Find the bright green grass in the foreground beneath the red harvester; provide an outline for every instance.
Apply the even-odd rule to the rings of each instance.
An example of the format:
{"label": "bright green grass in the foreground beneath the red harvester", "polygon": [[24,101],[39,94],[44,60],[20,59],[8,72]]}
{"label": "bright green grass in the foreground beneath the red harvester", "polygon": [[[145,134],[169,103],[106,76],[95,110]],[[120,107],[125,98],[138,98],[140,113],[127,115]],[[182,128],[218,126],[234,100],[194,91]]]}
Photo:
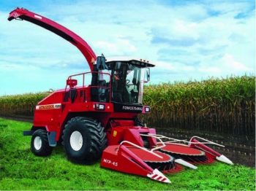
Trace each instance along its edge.
{"label": "bright green grass in the foreground beneath the red harvester", "polygon": [[255,190],[255,169],[214,163],[167,175],[172,184],[70,163],[62,147],[50,157],[30,152],[31,123],[0,118],[0,190]]}

